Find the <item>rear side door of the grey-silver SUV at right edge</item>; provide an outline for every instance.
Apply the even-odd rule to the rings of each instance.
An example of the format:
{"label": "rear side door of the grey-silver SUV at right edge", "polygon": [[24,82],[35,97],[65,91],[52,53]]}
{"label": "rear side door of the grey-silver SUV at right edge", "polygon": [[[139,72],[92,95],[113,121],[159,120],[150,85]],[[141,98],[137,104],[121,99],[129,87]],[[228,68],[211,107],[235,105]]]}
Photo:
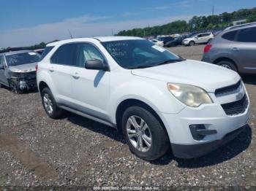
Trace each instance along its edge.
{"label": "rear side door of the grey-silver SUV at right edge", "polygon": [[256,27],[238,31],[230,50],[244,71],[256,71]]}

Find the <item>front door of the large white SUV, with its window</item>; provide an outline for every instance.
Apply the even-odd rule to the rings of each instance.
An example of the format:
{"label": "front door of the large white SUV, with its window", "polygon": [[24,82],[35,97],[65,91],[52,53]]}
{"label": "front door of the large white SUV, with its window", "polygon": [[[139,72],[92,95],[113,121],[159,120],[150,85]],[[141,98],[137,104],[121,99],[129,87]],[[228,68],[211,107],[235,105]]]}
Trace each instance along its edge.
{"label": "front door of the large white SUV, with its window", "polygon": [[86,61],[100,60],[108,64],[94,44],[77,44],[72,78],[72,98],[75,108],[102,120],[108,120],[107,105],[110,98],[110,72],[85,68]]}

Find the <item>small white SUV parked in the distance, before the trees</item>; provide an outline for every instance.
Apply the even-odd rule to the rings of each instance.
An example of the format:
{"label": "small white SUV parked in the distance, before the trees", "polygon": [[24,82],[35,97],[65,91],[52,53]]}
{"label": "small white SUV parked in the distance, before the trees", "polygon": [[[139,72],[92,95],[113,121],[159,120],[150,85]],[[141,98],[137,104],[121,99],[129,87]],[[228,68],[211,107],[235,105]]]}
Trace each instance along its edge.
{"label": "small white SUV parked in the distance, before the trees", "polygon": [[206,44],[211,41],[211,39],[214,39],[214,34],[212,33],[200,33],[195,34],[187,39],[184,39],[182,41],[182,44],[185,46],[194,46],[195,44]]}

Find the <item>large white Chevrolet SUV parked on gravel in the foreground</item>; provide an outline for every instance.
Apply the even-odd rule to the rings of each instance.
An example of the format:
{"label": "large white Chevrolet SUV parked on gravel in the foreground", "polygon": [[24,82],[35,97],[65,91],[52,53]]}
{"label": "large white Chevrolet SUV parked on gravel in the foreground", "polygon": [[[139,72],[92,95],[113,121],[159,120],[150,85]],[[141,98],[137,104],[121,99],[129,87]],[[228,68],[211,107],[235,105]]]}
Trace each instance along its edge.
{"label": "large white Chevrolet SUV parked on gravel in the foreground", "polygon": [[176,157],[205,155],[249,120],[249,98],[236,72],[184,60],[136,37],[50,43],[37,85],[49,117],[65,109],[115,127],[145,160],[170,146]]}

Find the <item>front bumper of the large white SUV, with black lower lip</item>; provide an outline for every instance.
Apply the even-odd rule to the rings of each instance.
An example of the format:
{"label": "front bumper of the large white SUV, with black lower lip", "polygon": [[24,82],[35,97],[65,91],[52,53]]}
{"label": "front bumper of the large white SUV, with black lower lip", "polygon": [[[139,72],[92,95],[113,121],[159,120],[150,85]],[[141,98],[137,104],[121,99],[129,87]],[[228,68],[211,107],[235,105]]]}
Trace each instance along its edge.
{"label": "front bumper of the large white SUV, with black lower lip", "polygon": [[[173,155],[191,158],[205,155],[235,138],[244,129],[249,117],[248,99],[241,114],[227,115],[221,104],[204,104],[197,109],[186,107],[178,114],[162,114],[161,118]],[[193,130],[194,127],[198,129]]]}

